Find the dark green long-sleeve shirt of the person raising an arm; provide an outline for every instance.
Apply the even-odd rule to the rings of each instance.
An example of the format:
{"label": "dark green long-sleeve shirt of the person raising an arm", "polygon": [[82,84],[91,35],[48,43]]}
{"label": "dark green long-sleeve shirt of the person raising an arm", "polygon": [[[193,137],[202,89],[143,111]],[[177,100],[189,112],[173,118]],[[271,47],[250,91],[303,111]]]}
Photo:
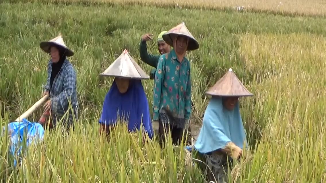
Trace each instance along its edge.
{"label": "dark green long-sleeve shirt of the person raising an arm", "polygon": [[154,79],[158,59],[160,58],[161,55],[148,54],[146,41],[142,41],[142,40],[141,40],[141,43],[139,45],[139,54],[141,56],[141,61],[147,63],[148,65],[150,65],[152,67],[155,67],[155,69],[152,69],[151,72],[150,72],[150,78]]}

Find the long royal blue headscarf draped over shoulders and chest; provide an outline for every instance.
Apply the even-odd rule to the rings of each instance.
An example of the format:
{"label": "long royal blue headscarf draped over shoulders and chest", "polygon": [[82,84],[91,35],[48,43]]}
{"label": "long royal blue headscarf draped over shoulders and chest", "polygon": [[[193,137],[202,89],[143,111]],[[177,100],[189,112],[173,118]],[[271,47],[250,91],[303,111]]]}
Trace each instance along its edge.
{"label": "long royal blue headscarf draped over shoulders and chest", "polygon": [[143,130],[147,132],[149,138],[153,137],[148,101],[140,80],[130,79],[129,87],[123,94],[119,92],[117,84],[113,81],[105,96],[99,123],[115,124],[118,111],[120,119],[128,122],[129,131],[140,130],[142,123]]}

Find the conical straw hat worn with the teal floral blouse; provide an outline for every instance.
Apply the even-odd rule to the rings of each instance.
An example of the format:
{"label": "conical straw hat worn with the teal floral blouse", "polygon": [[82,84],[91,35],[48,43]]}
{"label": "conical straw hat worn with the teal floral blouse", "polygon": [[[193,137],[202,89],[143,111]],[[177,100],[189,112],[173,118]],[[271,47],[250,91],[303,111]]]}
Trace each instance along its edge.
{"label": "conical straw hat worn with the teal floral blouse", "polygon": [[187,51],[192,51],[192,50],[196,50],[199,48],[199,44],[197,42],[197,40],[194,38],[194,36],[192,36],[192,34],[189,32],[189,30],[187,29],[187,27],[185,26],[185,23],[182,22],[181,24],[175,26],[174,28],[170,29],[170,31],[168,31],[167,33],[163,34],[163,39],[164,41],[169,44],[170,46],[173,47],[173,41],[171,39],[171,34],[174,35],[184,35],[187,36],[189,38],[189,43],[188,43],[188,47],[187,47]]}

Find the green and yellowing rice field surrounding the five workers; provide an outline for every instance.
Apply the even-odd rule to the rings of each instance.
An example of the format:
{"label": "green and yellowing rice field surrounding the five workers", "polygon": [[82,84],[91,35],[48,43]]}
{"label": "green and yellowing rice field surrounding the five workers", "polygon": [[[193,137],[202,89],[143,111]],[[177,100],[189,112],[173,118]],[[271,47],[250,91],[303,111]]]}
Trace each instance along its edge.
{"label": "green and yellowing rice field surrounding the five workers", "polygon": [[[112,82],[99,73],[124,49],[149,72],[152,68],[139,60],[141,36],[153,33],[156,39],[182,21],[200,44],[187,54],[192,63],[192,123],[200,126],[209,101],[204,93],[229,68],[254,94],[241,100],[249,156],[234,166],[230,182],[326,181],[326,19],[309,16],[325,13],[321,1],[286,1],[283,9],[276,8],[278,1],[254,0],[244,1],[246,6],[240,1],[174,1],[171,7],[163,7],[173,4],[169,0],[73,1],[0,3],[2,125],[41,98],[49,56],[39,43],[59,32],[75,52],[69,60],[78,74],[80,103],[75,131],[67,136],[59,126],[47,132],[46,150],[44,144],[31,147],[21,166],[12,167],[7,138],[2,137],[1,182],[205,182],[182,147],[169,144],[161,151],[156,140],[142,144],[123,127],[110,142],[98,133]],[[264,11],[213,10],[234,4]],[[287,16],[283,10],[307,16]],[[147,47],[158,54],[155,41]],[[152,106],[153,81],[143,85]],[[40,114],[41,109],[29,120],[37,121]]]}

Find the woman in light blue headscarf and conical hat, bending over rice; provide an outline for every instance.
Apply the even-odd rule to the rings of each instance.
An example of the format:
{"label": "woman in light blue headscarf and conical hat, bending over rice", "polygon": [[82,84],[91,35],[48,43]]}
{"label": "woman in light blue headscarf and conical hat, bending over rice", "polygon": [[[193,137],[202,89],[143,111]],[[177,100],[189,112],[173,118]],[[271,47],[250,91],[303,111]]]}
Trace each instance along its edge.
{"label": "woman in light blue headscarf and conical hat, bending over rice", "polygon": [[[206,108],[195,149],[200,152],[208,181],[228,182],[228,162],[240,159],[247,147],[239,110],[239,97],[252,96],[237,76],[229,71],[206,93],[212,98]],[[230,164],[231,165],[231,164]],[[214,175],[214,176],[213,176]]]}

